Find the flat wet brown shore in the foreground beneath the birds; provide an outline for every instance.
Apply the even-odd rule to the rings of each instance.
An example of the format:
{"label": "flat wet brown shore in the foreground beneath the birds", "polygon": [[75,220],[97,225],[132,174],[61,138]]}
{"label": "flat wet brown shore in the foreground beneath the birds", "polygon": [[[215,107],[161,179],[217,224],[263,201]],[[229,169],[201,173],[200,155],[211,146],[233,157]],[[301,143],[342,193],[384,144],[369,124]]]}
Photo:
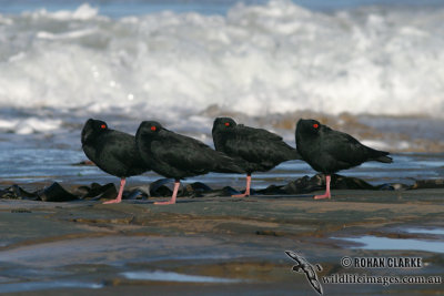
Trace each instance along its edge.
{"label": "flat wet brown shore in the foreground beneath the birds", "polygon": [[[284,251],[319,276],[444,274],[443,253],[365,249],[363,235],[443,243],[444,190],[297,196],[44,203],[0,201],[0,293],[10,295],[317,295]],[[403,245],[400,241],[400,246]],[[405,241],[407,242],[407,241]],[[444,246],[444,244],[443,244]],[[444,249],[444,247],[443,247]],[[421,257],[422,268],[344,268],[341,258]],[[167,280],[161,280],[167,279]],[[322,284],[324,295],[440,295],[443,285]]]}

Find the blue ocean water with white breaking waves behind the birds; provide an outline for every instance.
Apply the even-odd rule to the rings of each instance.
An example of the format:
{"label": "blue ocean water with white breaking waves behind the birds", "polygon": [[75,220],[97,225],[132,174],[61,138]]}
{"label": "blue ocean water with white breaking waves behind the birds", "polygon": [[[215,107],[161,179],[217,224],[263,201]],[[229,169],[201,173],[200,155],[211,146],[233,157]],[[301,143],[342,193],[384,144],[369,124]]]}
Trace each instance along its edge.
{"label": "blue ocean water with white breaking waves behind the birds", "polygon": [[292,145],[299,118],[321,119],[437,177],[443,18],[436,0],[1,0],[0,177],[101,175],[70,166],[88,118],[212,144],[223,114]]}

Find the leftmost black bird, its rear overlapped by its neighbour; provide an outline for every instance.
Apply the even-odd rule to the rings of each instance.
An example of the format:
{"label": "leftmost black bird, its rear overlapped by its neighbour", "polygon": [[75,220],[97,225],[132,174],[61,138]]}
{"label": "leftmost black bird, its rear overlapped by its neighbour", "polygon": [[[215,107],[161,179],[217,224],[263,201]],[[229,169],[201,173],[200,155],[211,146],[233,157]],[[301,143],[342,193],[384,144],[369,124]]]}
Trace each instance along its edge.
{"label": "leftmost black bird, its rear overlapped by its neighbour", "polygon": [[89,119],[82,130],[82,149],[97,166],[120,177],[119,195],[105,204],[120,203],[127,177],[150,170],[140,157],[133,135],[110,130],[104,121]]}

